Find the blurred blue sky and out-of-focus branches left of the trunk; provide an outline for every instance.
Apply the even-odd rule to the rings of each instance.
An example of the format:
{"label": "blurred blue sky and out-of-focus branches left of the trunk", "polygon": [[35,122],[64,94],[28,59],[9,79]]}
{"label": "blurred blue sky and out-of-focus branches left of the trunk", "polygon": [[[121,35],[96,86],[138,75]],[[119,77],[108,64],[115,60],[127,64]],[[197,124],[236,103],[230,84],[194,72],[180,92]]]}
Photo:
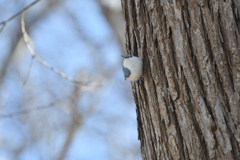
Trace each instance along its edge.
{"label": "blurred blue sky and out-of-focus branches left of the trunk", "polygon": [[[0,0],[0,22],[33,0]],[[140,160],[120,0],[42,0],[0,33],[0,160]]]}

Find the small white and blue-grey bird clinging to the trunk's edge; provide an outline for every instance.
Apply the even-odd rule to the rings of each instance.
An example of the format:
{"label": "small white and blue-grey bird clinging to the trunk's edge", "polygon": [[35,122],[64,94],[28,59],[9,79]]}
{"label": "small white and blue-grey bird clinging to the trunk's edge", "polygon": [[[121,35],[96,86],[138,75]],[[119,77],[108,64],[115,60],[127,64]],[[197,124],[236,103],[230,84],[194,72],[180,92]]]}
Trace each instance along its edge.
{"label": "small white and blue-grey bird clinging to the trunk's edge", "polygon": [[137,81],[143,74],[143,62],[140,58],[132,55],[122,55],[123,73],[125,80]]}

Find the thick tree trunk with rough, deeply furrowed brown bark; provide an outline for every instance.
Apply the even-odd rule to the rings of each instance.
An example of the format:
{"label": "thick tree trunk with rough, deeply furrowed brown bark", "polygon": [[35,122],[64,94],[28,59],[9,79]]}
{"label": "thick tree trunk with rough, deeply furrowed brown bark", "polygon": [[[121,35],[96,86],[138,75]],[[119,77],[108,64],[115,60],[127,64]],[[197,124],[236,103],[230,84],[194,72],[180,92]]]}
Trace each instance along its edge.
{"label": "thick tree trunk with rough, deeply furrowed brown bark", "polygon": [[240,159],[240,0],[122,0],[143,159]]}

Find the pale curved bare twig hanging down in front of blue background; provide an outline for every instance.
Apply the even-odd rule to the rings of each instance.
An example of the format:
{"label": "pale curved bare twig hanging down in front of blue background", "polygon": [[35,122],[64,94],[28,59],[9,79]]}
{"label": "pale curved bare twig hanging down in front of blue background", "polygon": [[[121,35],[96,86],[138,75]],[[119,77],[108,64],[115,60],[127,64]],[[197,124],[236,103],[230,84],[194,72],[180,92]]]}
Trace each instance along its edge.
{"label": "pale curved bare twig hanging down in front of blue background", "polygon": [[58,74],[60,77],[76,83],[76,84],[81,84],[80,82],[74,80],[72,77],[67,76],[65,73],[63,73],[62,71],[58,70],[57,68],[51,66],[50,64],[48,64],[46,61],[44,61],[42,58],[40,58],[34,51],[34,46],[33,46],[33,42],[31,40],[31,38],[28,36],[26,29],[25,29],[25,23],[24,23],[24,12],[22,13],[22,17],[21,17],[21,28],[22,28],[22,33],[23,33],[23,41],[27,47],[27,49],[29,50],[30,54],[39,62],[41,63],[43,66],[47,67],[48,69],[52,70],[53,72],[55,72],[56,74]]}

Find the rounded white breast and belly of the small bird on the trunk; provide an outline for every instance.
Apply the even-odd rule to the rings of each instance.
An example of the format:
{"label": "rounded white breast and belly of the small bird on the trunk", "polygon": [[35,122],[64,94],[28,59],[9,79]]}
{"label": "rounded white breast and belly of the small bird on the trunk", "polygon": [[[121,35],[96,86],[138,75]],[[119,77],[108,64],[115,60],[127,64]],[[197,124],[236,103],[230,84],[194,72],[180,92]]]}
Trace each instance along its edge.
{"label": "rounded white breast and belly of the small bird on the trunk", "polygon": [[123,65],[131,72],[130,76],[128,77],[129,80],[136,81],[142,76],[143,62],[140,58],[134,56],[131,58],[124,58]]}

